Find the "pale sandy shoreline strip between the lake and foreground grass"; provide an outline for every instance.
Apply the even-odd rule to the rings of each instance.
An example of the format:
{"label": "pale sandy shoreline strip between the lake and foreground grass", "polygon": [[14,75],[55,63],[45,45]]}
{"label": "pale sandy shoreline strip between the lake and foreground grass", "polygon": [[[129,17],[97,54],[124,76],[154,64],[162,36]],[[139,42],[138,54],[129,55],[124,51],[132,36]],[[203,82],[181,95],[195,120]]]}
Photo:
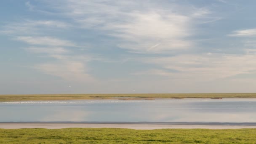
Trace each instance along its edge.
{"label": "pale sandy shoreline strip between the lake and foreground grass", "polygon": [[101,123],[0,123],[0,128],[129,128],[136,130],[152,130],[164,128],[206,128],[206,129],[239,129],[256,128],[256,125],[162,125],[162,124],[101,124]]}

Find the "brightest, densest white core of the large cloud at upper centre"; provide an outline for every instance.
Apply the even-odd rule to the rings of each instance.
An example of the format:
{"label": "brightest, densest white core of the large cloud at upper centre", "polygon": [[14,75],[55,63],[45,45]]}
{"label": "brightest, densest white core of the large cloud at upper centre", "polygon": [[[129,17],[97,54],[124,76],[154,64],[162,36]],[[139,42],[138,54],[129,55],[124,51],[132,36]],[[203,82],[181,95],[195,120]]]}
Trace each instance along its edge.
{"label": "brightest, densest white core of the large cloud at upper centre", "polygon": [[131,23],[108,26],[115,29],[112,36],[122,39],[118,44],[131,52],[161,53],[192,47],[189,36],[189,17],[179,14],[133,13]]}

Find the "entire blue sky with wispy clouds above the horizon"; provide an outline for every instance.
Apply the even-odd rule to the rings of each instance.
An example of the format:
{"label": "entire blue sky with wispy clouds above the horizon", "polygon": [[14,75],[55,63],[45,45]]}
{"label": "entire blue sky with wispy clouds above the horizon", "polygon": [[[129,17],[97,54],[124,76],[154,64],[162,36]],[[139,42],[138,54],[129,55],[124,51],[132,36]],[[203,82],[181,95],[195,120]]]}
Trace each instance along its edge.
{"label": "entire blue sky with wispy clouds above the horizon", "polygon": [[255,0],[2,0],[0,94],[256,92]]}

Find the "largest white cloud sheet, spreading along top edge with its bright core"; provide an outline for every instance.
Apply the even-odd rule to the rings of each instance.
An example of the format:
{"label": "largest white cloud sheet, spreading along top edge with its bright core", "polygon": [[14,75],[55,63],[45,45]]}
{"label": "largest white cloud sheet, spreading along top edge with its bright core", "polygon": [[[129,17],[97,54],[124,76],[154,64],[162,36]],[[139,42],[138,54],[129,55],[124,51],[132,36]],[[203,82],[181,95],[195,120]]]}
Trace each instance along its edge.
{"label": "largest white cloud sheet, spreading along top edge with its bright core", "polygon": [[[199,21],[211,21],[207,8],[153,1],[63,0],[48,3],[84,29],[117,38],[117,46],[132,53],[166,53],[195,46],[189,40]],[[168,5],[168,7],[165,6]],[[170,11],[170,9],[172,11]],[[99,11],[100,10],[100,11]],[[173,12],[175,11],[175,12]]]}

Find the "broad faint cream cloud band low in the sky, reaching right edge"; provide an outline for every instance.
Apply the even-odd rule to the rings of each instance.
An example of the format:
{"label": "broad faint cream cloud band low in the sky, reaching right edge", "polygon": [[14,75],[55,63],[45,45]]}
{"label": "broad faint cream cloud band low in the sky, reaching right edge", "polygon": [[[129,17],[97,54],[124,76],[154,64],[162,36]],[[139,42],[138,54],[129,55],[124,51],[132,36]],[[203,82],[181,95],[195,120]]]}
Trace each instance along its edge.
{"label": "broad faint cream cloud band low in the sky, reaching right edge", "polygon": [[178,55],[144,59],[144,62],[157,64],[164,69],[139,72],[141,75],[164,75],[174,79],[215,80],[256,71],[256,53],[245,55],[217,54]]}

